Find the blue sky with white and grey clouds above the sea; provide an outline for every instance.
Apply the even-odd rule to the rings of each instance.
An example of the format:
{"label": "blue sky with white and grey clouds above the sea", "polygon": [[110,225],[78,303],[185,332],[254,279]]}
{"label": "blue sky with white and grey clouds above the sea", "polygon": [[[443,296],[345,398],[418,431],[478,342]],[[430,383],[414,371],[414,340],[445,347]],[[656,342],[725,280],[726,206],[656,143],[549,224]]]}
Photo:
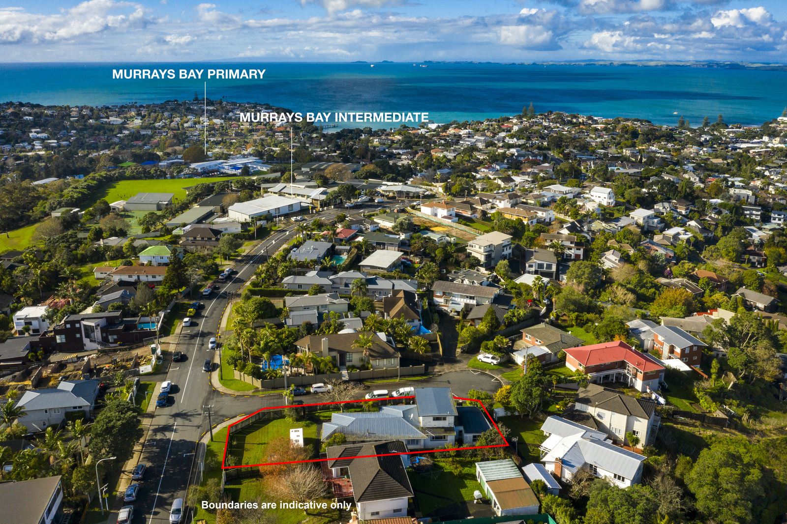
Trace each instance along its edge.
{"label": "blue sky with white and grey clouds above the sea", "polygon": [[787,62],[787,0],[0,0],[0,61]]}

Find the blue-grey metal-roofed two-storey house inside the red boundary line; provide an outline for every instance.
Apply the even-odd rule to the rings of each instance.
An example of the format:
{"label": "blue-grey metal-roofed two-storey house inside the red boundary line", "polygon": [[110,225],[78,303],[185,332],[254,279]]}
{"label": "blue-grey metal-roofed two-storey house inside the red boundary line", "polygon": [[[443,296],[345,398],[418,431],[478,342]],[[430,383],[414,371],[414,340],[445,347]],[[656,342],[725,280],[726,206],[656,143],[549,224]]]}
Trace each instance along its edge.
{"label": "blue-grey metal-roofed two-storey house inside the red boundary line", "polygon": [[341,433],[358,444],[385,435],[408,450],[434,449],[471,444],[491,427],[477,406],[456,406],[450,388],[416,388],[415,397],[415,404],[384,405],[375,412],[332,413],[321,438]]}

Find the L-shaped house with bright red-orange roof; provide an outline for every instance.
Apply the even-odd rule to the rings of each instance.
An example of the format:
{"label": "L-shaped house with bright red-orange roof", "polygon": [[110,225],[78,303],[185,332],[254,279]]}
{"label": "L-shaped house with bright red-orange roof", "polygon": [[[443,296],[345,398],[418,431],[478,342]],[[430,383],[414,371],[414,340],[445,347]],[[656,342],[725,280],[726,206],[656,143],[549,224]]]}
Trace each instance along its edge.
{"label": "L-shaped house with bright red-orange roof", "polygon": [[648,353],[639,352],[623,341],[602,342],[564,349],[566,367],[590,376],[590,382],[625,382],[645,392],[656,391],[664,378],[664,367]]}

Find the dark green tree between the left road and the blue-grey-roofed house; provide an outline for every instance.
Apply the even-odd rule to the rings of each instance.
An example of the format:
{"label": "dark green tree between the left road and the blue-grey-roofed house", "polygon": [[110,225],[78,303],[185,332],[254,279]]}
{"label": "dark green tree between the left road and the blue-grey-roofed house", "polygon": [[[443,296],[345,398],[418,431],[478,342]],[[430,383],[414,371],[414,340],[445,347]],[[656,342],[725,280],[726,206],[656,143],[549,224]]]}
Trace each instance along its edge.
{"label": "dark green tree between the left road and the blue-grey-roofed house", "polygon": [[127,400],[109,400],[96,416],[91,436],[87,448],[95,458],[116,456],[118,464],[124,463],[142,437],[139,408]]}

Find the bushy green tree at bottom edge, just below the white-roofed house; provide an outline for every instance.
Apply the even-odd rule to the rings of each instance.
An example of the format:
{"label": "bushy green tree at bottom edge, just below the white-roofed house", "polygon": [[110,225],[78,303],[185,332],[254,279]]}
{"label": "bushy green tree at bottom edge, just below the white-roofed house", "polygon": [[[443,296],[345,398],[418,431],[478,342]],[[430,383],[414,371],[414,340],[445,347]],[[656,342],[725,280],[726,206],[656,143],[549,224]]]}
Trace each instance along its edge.
{"label": "bushy green tree at bottom edge, just below the white-roofed house", "polygon": [[593,481],[585,524],[656,524],[656,496],[647,485],[621,489],[603,479]]}

